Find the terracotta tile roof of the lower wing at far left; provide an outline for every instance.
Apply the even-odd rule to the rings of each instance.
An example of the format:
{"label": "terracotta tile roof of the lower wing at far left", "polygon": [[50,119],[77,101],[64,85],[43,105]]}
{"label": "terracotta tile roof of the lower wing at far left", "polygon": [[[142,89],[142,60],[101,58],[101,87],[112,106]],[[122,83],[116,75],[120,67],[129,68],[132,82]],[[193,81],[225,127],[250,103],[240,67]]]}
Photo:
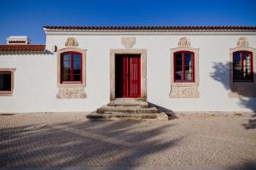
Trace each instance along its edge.
{"label": "terracotta tile roof of the lower wing at far left", "polygon": [[32,44],[0,45],[0,53],[1,52],[44,52],[44,51],[45,51],[45,45],[32,45]]}

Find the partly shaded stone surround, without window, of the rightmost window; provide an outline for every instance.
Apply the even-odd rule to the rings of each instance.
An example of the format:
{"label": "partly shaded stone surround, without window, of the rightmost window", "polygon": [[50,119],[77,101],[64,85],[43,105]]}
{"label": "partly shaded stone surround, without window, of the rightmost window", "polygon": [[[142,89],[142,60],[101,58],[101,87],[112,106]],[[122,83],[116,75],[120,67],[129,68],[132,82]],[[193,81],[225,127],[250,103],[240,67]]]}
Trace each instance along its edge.
{"label": "partly shaded stone surround, without window, of the rightmost window", "polygon": [[[230,48],[230,98],[256,97],[256,48],[250,48],[245,37],[240,37],[236,48]],[[253,53],[253,82],[233,81],[233,54],[237,51]]]}

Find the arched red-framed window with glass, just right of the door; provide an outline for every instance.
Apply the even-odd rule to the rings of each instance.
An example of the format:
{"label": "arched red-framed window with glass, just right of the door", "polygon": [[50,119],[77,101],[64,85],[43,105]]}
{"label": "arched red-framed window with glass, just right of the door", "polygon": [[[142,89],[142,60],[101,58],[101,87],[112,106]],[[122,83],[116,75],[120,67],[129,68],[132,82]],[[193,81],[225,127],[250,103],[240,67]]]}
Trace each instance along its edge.
{"label": "arched red-framed window with glass, just right of the door", "polygon": [[194,56],[190,51],[174,53],[174,82],[195,82]]}

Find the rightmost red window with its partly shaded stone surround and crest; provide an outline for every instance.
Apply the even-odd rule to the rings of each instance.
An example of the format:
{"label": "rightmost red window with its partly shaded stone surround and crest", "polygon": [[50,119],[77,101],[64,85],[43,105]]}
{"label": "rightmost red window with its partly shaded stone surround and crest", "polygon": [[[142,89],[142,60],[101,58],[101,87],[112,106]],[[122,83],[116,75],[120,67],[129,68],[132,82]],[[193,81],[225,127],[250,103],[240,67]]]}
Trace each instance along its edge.
{"label": "rightmost red window with its partly shaded stone surround and crest", "polygon": [[256,49],[248,47],[246,37],[240,37],[236,48],[230,48],[231,98],[256,97]]}

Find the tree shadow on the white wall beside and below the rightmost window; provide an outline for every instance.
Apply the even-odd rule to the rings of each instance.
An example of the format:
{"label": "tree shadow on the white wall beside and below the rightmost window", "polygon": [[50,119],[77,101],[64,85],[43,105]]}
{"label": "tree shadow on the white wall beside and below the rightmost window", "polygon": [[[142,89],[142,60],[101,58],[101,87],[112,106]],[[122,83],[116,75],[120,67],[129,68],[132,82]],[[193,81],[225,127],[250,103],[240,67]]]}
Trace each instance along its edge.
{"label": "tree shadow on the white wall beside and below the rightmost window", "polygon": [[[238,90],[238,88],[230,88],[230,62],[221,63],[221,62],[213,62],[212,68],[214,71],[211,73],[211,77],[222,83],[224,88],[230,92],[238,94],[240,105],[250,109],[253,112],[256,112],[256,99],[255,98],[248,98],[247,93],[242,90]],[[255,74],[255,73],[254,73]],[[254,80],[256,81],[256,80]],[[243,126],[246,129],[256,128],[256,114],[253,114],[253,118],[250,119],[246,124]]]}

